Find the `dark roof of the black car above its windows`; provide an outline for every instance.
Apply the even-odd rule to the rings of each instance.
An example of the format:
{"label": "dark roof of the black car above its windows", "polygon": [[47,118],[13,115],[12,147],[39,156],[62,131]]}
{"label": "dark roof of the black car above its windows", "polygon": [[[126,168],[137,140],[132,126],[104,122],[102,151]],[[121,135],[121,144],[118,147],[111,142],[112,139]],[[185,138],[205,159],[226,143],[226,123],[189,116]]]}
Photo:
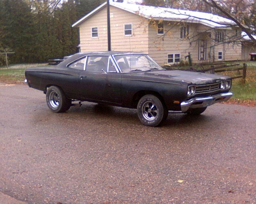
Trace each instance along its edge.
{"label": "dark roof of the black car above its windows", "polygon": [[69,56],[67,59],[65,59],[63,62],[61,62],[59,65],[63,66],[63,65],[67,65],[71,62],[76,61],[77,59],[86,56],[86,55],[147,55],[145,53],[141,53],[141,52],[124,52],[124,51],[102,51],[102,52],[80,52],[80,53],[76,53],[74,55]]}

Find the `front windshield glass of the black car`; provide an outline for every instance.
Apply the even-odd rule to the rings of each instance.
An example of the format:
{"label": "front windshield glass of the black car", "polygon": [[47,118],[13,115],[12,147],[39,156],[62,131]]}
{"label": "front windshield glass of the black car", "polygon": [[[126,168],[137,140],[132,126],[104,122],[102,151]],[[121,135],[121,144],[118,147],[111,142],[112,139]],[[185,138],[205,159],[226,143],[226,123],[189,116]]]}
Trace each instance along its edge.
{"label": "front windshield glass of the black car", "polygon": [[116,55],[114,57],[122,72],[162,69],[148,55]]}

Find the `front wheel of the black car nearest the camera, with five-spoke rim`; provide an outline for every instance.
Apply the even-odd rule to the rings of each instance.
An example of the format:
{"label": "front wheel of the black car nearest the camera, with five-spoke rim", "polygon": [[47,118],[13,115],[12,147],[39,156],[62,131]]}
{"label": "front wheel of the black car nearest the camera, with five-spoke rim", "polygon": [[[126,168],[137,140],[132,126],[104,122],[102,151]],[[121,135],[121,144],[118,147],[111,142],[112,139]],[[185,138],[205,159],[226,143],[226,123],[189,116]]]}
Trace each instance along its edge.
{"label": "front wheel of the black car nearest the camera, with five-spoke rim", "polygon": [[164,103],[154,95],[145,95],[140,98],[137,112],[142,124],[151,127],[163,124],[168,116]]}

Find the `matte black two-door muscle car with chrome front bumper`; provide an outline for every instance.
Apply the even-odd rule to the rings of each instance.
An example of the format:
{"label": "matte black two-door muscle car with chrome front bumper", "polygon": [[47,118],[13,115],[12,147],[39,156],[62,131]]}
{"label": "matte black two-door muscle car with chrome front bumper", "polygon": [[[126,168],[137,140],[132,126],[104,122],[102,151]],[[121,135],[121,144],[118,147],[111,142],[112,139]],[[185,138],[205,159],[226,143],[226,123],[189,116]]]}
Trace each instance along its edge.
{"label": "matte black two-door muscle car with chrome front bumper", "polygon": [[53,112],[67,111],[73,101],[137,108],[140,121],[153,127],[169,111],[197,115],[233,95],[228,76],[165,70],[143,53],[78,53],[57,66],[26,69],[25,76]]}

